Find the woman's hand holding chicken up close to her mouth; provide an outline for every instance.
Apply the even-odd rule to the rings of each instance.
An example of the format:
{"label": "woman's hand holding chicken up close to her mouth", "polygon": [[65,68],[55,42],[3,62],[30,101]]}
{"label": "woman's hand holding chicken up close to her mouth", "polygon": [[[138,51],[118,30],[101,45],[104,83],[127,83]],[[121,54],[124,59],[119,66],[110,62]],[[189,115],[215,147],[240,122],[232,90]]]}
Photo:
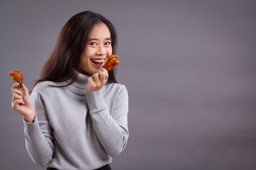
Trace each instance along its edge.
{"label": "woman's hand holding chicken up close to her mouth", "polygon": [[[93,79],[92,79],[93,77]],[[89,86],[86,89],[86,92],[99,91],[107,83],[108,73],[104,68],[100,69],[100,72],[97,72],[88,78]]]}

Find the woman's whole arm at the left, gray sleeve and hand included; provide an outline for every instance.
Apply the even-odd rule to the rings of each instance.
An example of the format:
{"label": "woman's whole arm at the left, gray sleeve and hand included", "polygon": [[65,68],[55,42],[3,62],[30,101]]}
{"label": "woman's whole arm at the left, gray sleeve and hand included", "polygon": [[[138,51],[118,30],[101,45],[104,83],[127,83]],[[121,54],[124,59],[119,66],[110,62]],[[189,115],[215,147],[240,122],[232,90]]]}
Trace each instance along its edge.
{"label": "woman's whole arm at the left, gray sleeve and hand included", "polygon": [[[33,162],[46,166],[52,158],[54,149],[46,108],[36,91],[29,96],[26,86],[22,87],[23,93],[17,87],[18,84],[14,84],[11,88],[13,94],[11,107],[23,115],[26,149]],[[40,121],[38,121],[38,116]]]}

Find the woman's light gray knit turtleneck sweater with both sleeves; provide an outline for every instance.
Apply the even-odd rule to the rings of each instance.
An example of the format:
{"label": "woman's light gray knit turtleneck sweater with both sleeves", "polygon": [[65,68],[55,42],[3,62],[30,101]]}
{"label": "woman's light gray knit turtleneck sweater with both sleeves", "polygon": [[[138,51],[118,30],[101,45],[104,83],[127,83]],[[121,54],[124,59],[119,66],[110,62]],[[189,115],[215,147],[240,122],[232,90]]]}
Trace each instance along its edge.
{"label": "woman's light gray knit turtleneck sweater with both sleeves", "polygon": [[28,153],[36,164],[55,169],[97,169],[112,162],[128,139],[128,94],[122,84],[105,84],[86,93],[87,76],[78,81],[43,81],[31,99],[36,109],[34,123],[26,123]]}

